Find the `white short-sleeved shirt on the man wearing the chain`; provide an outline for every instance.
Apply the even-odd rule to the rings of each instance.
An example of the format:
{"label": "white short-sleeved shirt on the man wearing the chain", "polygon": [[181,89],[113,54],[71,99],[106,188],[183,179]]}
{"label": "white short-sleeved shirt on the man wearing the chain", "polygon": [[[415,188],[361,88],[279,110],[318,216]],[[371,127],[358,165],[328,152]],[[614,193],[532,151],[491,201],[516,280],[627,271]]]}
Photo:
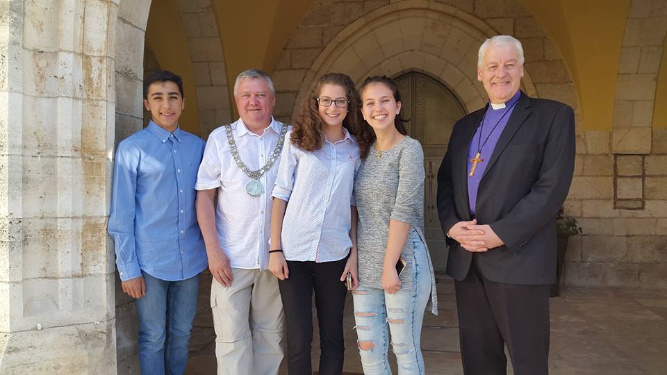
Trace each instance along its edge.
{"label": "white short-sleeved shirt on the man wearing the chain", "polygon": [[[260,169],[271,157],[283,124],[271,119],[262,135],[249,131],[238,119],[231,124],[238,153],[250,170]],[[287,125],[285,125],[287,126]],[[287,139],[287,138],[286,138]],[[284,152],[284,151],[283,151]],[[229,148],[224,126],[208,136],[197,174],[197,190],[217,188],[215,227],[220,247],[233,268],[267,269],[271,235],[271,190],[276,181],[280,157],[259,181],[264,192],[252,197],[245,190],[251,178],[243,172]]]}

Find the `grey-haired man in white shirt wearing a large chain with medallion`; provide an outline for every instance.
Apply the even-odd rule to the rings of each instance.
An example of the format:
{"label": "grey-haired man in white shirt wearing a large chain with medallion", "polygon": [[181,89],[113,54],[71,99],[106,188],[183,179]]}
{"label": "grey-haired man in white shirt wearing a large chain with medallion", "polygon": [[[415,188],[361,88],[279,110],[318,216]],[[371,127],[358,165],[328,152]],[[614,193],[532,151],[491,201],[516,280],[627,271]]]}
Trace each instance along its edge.
{"label": "grey-haired man in white shirt wearing a large chain with medallion", "polygon": [[274,375],[283,358],[283,308],[267,271],[271,191],[288,125],[272,116],[275,90],[261,70],[238,75],[234,99],[240,119],[209,135],[195,187],[213,274],[217,374]]}

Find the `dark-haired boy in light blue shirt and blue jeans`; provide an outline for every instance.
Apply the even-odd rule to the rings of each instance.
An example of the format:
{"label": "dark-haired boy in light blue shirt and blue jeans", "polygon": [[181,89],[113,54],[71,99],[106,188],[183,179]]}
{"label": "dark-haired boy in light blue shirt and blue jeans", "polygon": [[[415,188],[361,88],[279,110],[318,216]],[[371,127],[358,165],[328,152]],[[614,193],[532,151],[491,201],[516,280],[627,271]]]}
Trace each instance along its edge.
{"label": "dark-haired boy in light blue shirt and blue jeans", "polygon": [[183,81],[158,71],[144,81],[151,122],[115,154],[108,231],[123,291],[136,299],[142,374],[183,374],[206,249],[195,213],[204,141],[183,131]]}

